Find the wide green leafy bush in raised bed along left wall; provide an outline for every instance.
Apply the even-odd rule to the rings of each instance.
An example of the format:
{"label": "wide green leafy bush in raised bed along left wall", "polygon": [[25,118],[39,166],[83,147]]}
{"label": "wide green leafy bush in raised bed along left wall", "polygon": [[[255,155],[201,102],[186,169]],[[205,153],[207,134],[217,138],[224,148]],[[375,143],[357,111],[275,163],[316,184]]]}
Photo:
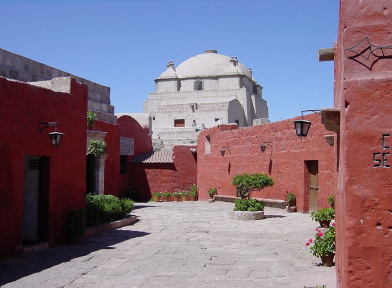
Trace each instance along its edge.
{"label": "wide green leafy bush in raised bed along left wall", "polygon": [[86,195],[86,225],[113,221],[122,218],[134,209],[130,199],[113,195]]}

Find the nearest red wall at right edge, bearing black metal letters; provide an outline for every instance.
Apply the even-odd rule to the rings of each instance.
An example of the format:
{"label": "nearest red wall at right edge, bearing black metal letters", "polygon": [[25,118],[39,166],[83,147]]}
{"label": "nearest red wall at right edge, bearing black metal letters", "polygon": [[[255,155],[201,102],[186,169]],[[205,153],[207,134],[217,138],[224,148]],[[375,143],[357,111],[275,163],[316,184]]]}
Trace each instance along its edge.
{"label": "nearest red wall at right edge, bearing black metal letters", "polygon": [[334,101],[341,109],[338,287],[392,286],[392,50],[375,47],[392,45],[391,18],[390,0],[341,0]]}

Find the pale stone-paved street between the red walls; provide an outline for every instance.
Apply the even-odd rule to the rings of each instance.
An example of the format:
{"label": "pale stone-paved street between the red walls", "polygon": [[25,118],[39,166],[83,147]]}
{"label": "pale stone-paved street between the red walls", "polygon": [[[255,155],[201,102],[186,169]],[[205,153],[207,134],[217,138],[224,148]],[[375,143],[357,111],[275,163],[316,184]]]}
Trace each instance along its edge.
{"label": "pale stone-paved street between the red walls", "polygon": [[266,208],[266,218],[228,218],[232,203],[139,203],[138,222],[80,244],[0,262],[3,288],[335,287],[305,242],[309,214]]}

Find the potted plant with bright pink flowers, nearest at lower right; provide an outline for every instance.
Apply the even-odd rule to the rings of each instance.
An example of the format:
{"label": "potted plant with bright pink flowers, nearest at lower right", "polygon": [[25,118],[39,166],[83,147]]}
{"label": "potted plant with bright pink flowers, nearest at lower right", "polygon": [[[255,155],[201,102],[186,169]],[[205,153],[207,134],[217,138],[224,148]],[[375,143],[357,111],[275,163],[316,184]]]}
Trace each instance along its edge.
{"label": "potted plant with bright pink flowers, nearest at lower right", "polygon": [[312,245],[313,255],[321,258],[323,266],[331,267],[335,257],[335,223],[328,228],[317,228],[316,232],[315,239],[310,238],[305,245]]}

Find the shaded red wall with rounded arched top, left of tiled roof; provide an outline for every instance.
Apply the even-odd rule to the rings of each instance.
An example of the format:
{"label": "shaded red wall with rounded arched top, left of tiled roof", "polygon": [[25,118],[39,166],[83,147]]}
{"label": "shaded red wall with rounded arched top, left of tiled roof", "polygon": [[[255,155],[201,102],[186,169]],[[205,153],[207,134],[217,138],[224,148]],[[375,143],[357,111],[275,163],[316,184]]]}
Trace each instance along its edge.
{"label": "shaded red wall with rounded arched top, left of tiled roof", "polygon": [[[145,154],[152,150],[151,135],[132,117],[124,115],[118,118],[117,123],[120,125],[120,136],[133,139],[133,155],[128,156],[128,162],[134,157]],[[130,168],[128,167],[128,171]],[[126,189],[130,186],[128,174],[120,175],[120,192],[123,197],[126,196]]]}

